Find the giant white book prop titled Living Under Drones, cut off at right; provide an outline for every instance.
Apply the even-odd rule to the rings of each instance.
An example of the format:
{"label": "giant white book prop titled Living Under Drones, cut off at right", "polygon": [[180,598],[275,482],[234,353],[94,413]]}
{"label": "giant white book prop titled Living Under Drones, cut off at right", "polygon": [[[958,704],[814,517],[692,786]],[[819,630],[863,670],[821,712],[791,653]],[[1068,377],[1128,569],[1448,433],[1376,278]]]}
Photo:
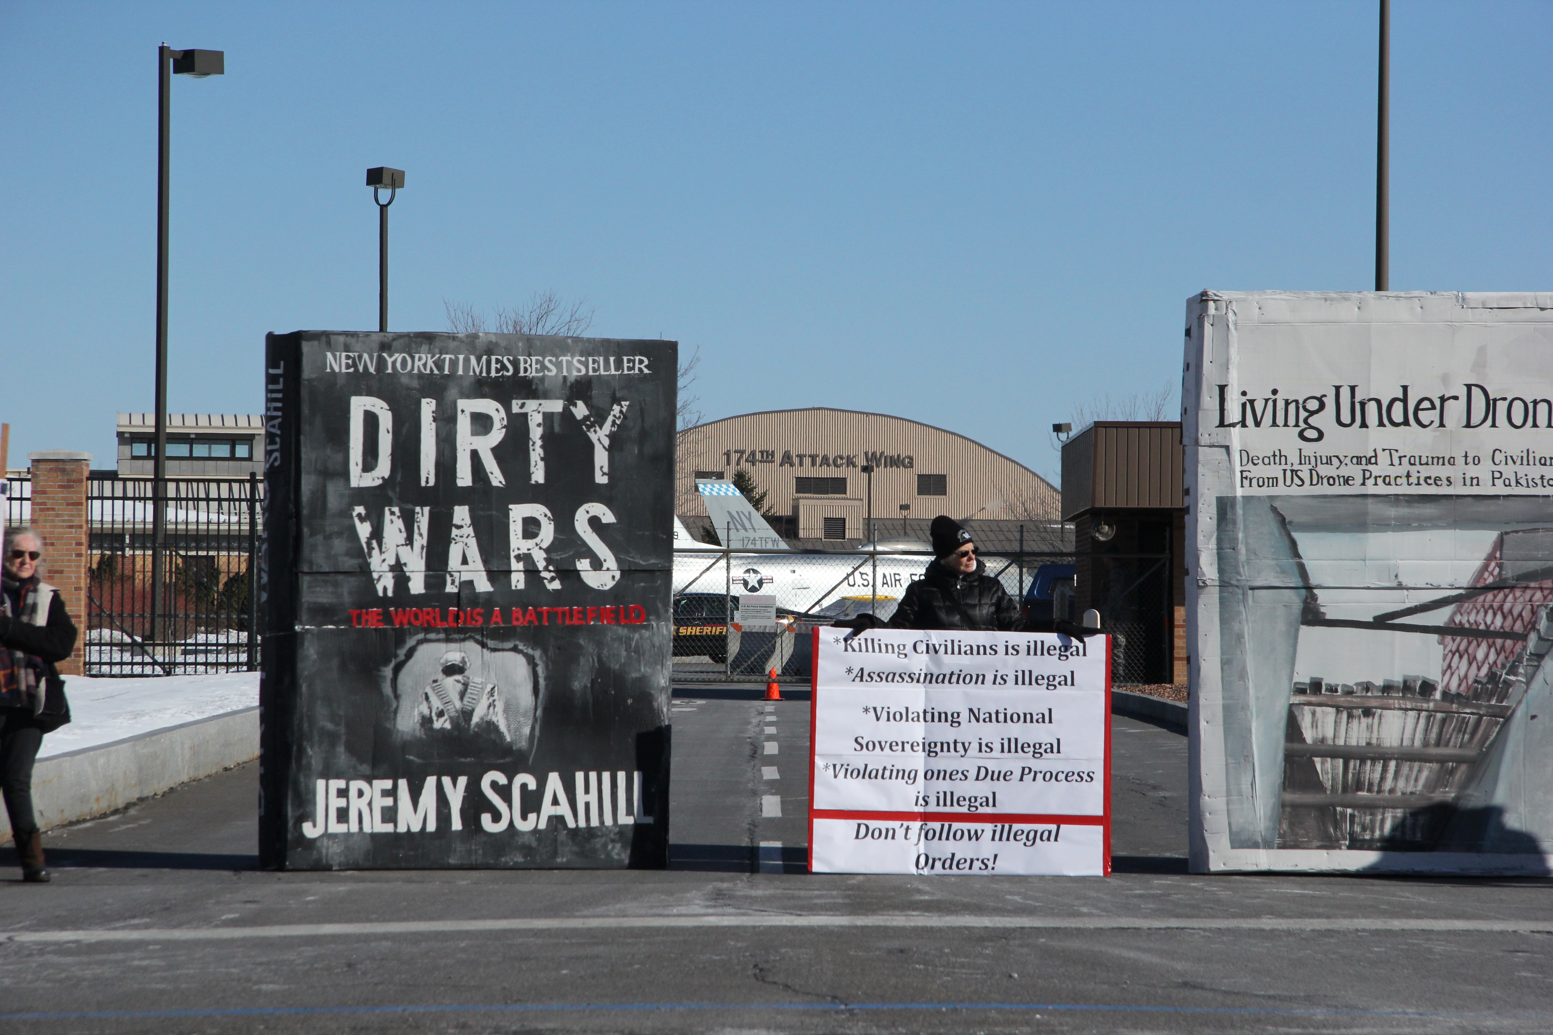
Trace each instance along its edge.
{"label": "giant white book prop titled Living Under Drones, cut off at right", "polygon": [[1186,306],[1191,866],[1547,874],[1553,296]]}

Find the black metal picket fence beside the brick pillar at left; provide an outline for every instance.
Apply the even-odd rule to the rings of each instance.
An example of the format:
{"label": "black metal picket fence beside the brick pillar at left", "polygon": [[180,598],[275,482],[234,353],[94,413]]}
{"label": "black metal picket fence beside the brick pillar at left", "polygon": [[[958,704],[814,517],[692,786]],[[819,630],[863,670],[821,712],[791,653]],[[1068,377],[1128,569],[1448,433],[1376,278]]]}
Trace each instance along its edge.
{"label": "black metal picket fence beside the brick pillar at left", "polygon": [[[154,483],[87,483],[87,675],[196,675],[259,667],[258,571],[264,483],[169,478],[162,593],[152,611]],[[31,483],[9,479],[6,524],[28,524]],[[47,563],[47,562],[45,562]]]}

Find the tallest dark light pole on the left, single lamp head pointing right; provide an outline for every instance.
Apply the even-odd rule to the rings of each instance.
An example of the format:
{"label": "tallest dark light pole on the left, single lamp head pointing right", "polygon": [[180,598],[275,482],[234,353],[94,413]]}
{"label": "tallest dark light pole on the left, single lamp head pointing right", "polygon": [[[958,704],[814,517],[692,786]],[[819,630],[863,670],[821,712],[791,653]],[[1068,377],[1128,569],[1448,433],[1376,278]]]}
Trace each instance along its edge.
{"label": "tallest dark light pole on the left, single lamp head pointing right", "polygon": [[151,483],[151,624],[155,644],[162,616],[162,556],[168,487],[168,177],[171,174],[172,74],[203,79],[227,71],[225,51],[157,48],[157,442]]}

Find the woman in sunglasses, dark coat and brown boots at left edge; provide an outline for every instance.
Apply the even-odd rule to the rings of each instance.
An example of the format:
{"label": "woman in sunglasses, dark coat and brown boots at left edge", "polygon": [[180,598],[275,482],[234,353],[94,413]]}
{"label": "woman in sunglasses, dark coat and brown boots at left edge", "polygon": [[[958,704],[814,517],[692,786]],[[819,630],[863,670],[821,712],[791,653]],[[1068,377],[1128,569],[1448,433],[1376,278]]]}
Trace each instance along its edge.
{"label": "woman in sunglasses, dark coat and brown boots at left edge", "polygon": [[26,529],[6,532],[0,579],[0,791],[22,880],[43,883],[43,844],[33,815],[33,762],[43,734],[70,722],[65,681],[54,664],[76,647],[76,625],[54,587],[37,576],[43,540]]}

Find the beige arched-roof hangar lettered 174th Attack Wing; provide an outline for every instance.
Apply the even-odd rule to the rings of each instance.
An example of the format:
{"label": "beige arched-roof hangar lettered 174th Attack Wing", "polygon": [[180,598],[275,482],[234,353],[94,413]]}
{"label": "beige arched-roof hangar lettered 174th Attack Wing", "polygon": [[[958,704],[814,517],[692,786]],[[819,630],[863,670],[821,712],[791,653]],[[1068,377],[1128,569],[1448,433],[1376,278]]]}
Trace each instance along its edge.
{"label": "beige arched-roof hangar lettered 174th Attack Wing", "polygon": [[[865,466],[874,469],[873,535]],[[815,545],[926,540],[938,514],[968,521],[978,540],[995,529],[1009,538],[1005,548],[1016,526],[1030,548],[1042,529],[1061,526],[1062,493],[1036,472],[963,434],[882,413],[769,410],[680,431],[674,511],[686,526],[707,523],[696,479],[738,470],[766,493],[780,535]]]}

